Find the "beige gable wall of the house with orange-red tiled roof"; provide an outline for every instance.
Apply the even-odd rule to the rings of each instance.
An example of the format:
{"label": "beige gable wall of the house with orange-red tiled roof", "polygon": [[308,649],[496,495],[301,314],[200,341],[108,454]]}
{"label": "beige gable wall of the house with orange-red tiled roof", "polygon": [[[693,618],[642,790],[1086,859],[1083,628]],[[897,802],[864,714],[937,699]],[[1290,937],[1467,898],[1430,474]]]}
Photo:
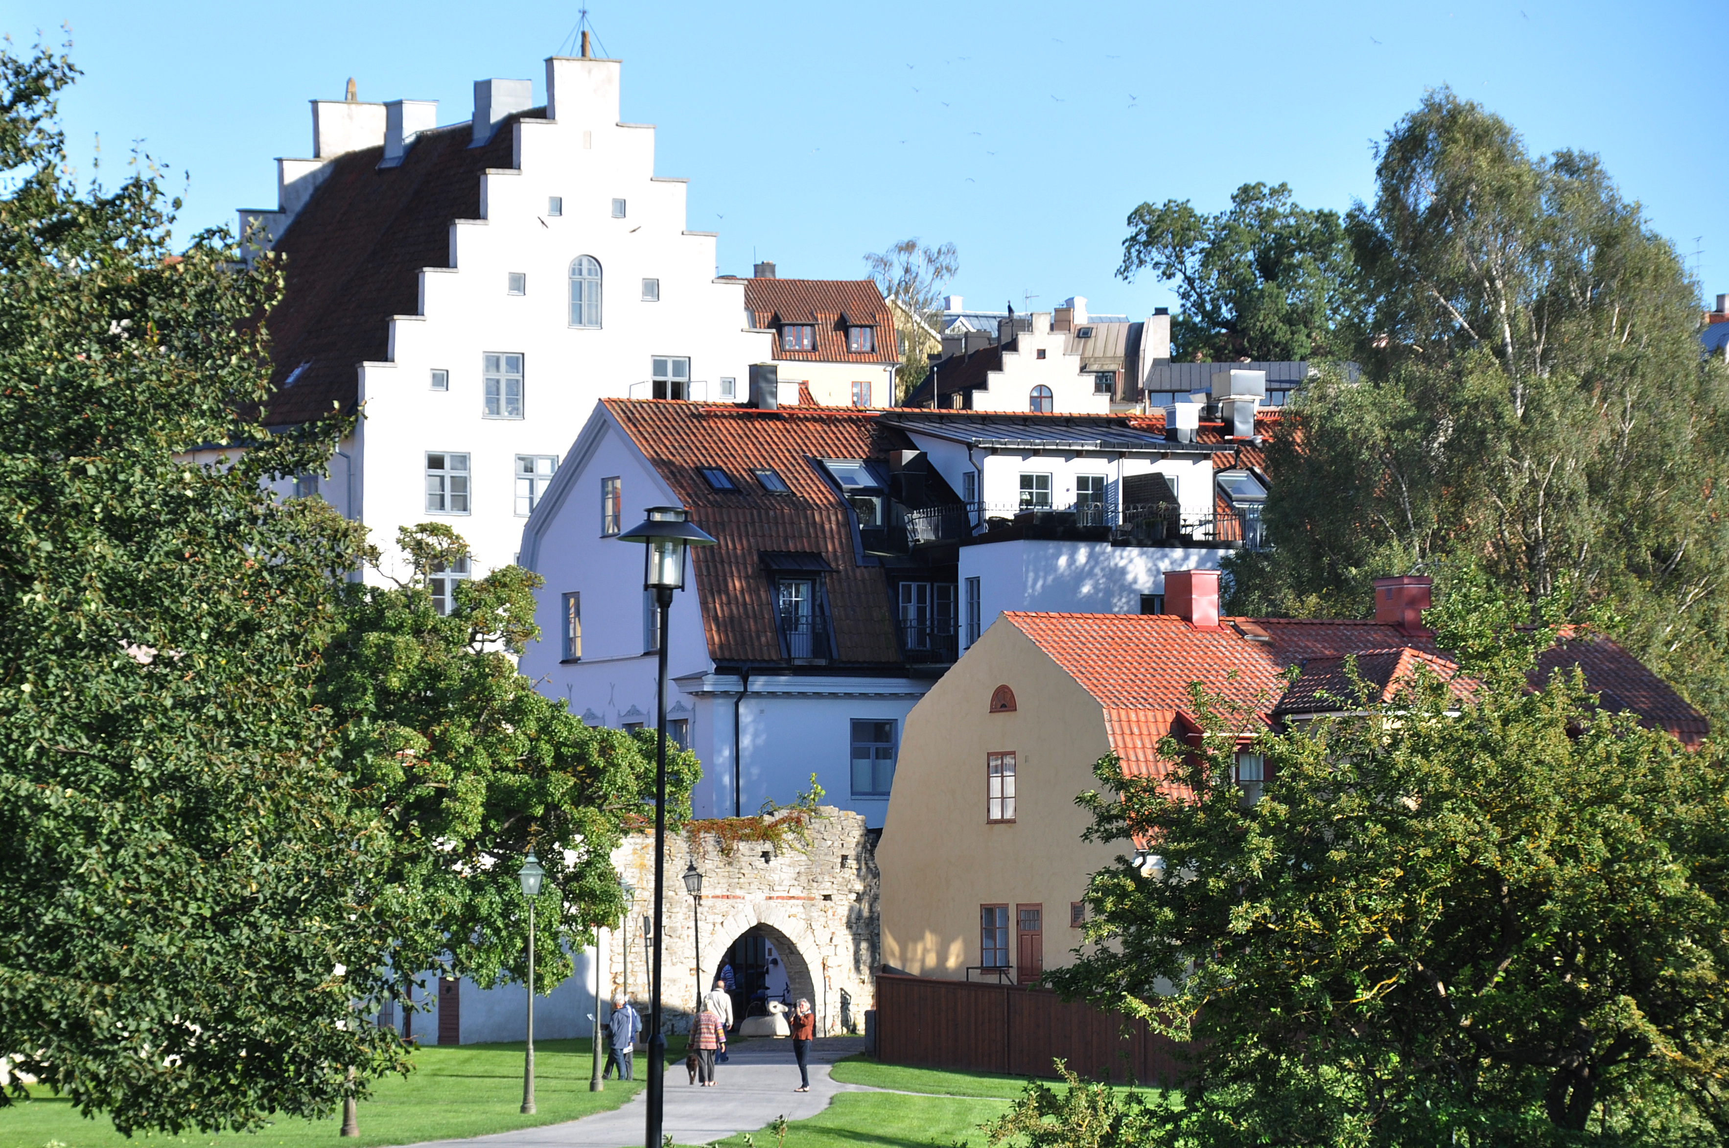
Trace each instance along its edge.
{"label": "beige gable wall of the house with orange-red tiled roof", "polygon": [[[999,685],[1015,692],[1011,714],[991,712]],[[1017,904],[1043,904],[1044,966],[1067,965],[1081,932],[1069,904],[1124,852],[1082,842],[1091,821],[1074,804],[1108,749],[1098,702],[1020,629],[991,626],[906,718],[877,844],[882,960],[961,980],[982,958],[979,906],[1010,906],[1013,928]],[[986,754],[998,750],[1015,752],[1013,825],[986,821]]]}

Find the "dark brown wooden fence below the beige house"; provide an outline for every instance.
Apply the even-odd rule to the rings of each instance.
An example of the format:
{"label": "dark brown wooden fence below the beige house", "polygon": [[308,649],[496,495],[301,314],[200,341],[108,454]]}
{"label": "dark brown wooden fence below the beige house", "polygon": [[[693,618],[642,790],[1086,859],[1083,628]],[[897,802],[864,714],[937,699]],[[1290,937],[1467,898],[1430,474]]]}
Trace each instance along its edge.
{"label": "dark brown wooden fence below the beige house", "polygon": [[1063,1001],[1046,989],[880,973],[877,1056],[884,1063],[1174,1084],[1177,1046],[1139,1020]]}

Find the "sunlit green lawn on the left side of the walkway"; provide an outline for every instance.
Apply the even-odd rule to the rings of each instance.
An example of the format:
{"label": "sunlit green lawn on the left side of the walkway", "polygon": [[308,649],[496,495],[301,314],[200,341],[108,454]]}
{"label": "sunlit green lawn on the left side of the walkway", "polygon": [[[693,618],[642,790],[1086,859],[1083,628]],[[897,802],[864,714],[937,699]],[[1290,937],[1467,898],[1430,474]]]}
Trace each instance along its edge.
{"label": "sunlit green lawn on the left side of the walkway", "polygon": [[[579,1041],[534,1043],[534,1103],[538,1112],[522,1115],[522,1044],[463,1044],[415,1051],[417,1070],[373,1084],[373,1098],[360,1105],[360,1139],[339,1139],[341,1117],[329,1120],[282,1120],[256,1134],[144,1136],[131,1141],[105,1119],[86,1120],[69,1101],[48,1089],[35,1089],[29,1103],[0,1108],[0,1148],[119,1148],[121,1145],[195,1145],[199,1148],[337,1148],[354,1145],[412,1145],[424,1139],[484,1136],[536,1124],[574,1120],[591,1112],[617,1108],[643,1087],[641,1081],[607,1081],[603,1093],[588,1091],[590,1044]],[[671,1055],[671,1049],[669,1049]],[[636,1070],[641,1074],[638,1055]]]}

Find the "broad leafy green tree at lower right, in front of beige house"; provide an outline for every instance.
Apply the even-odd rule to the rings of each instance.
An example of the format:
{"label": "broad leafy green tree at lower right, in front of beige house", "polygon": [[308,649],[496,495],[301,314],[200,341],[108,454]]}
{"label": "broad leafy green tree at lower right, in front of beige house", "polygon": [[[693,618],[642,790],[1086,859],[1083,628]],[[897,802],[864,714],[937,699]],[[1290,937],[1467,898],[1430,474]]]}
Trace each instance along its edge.
{"label": "broad leafy green tree at lower right, in front of beige house", "polygon": [[[1190,1046],[1148,1145],[1715,1145],[1729,1131],[1729,901],[1715,749],[1528,688],[1551,624],[1487,583],[1432,612],[1468,678],[1423,673],[1264,733],[1196,686],[1162,778],[1098,766],[1091,949],[1046,980]],[[1437,617],[1439,615],[1439,617]],[[1262,726],[1264,728],[1264,726]],[[1169,994],[1162,989],[1169,985]]]}

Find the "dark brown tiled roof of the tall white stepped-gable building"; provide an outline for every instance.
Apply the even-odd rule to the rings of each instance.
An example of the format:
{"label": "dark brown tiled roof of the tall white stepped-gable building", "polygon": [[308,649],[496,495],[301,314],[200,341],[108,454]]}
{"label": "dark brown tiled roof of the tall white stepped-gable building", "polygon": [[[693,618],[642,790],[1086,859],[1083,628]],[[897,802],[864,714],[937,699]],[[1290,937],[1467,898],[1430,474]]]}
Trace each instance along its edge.
{"label": "dark brown tiled roof of the tall white stepped-gable building", "polygon": [[450,266],[450,223],[481,214],[481,173],[510,166],[512,135],[505,123],[486,145],[469,147],[462,123],[422,131],[398,168],[379,168],[382,147],[330,161],[275,246],[287,263],[282,303],[270,313],[271,382],[294,382],[266,403],[268,424],[354,406],[356,367],[389,354],[392,315],[420,309],[420,268]]}

